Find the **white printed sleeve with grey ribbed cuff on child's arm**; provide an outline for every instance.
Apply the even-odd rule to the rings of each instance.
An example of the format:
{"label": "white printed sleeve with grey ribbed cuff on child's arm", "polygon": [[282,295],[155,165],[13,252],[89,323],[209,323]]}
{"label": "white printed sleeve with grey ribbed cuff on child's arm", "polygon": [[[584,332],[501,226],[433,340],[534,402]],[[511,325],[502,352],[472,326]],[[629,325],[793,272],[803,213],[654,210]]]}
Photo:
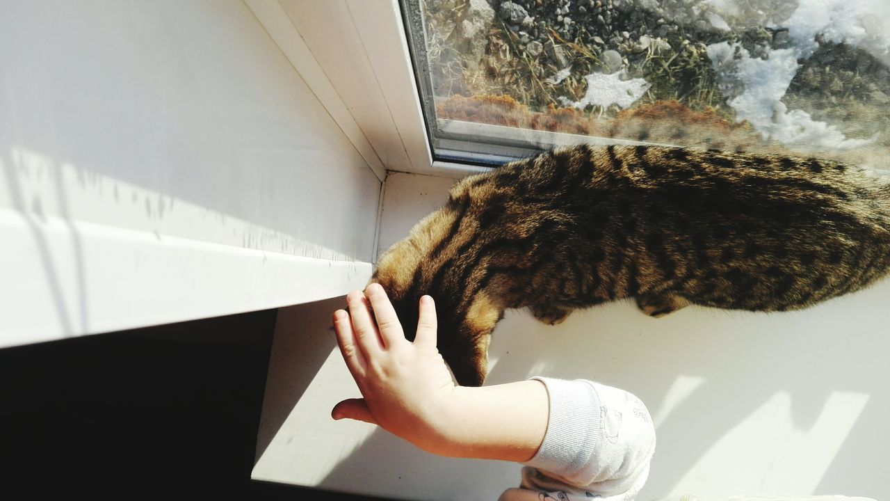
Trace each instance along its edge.
{"label": "white printed sleeve with grey ribbed cuff on child's arm", "polygon": [[523,489],[509,489],[501,499],[546,492],[554,499],[633,500],[655,451],[655,429],[643,402],[597,382],[534,379],[544,383],[550,399],[547,431],[522,470]]}

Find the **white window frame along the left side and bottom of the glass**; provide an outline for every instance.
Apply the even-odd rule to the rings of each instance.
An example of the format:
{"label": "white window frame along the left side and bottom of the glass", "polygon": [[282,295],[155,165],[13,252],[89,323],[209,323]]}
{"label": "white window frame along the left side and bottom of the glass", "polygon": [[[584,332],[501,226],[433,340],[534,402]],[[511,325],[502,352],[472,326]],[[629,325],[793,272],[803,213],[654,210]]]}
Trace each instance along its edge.
{"label": "white window frame along the left side and bottom of the glass", "polygon": [[[651,144],[606,137],[556,133],[520,127],[503,127],[452,119],[426,119],[424,108],[432,109],[432,96],[424,103],[409,47],[405,22],[417,17],[402,8],[398,0],[245,0],[256,18],[281,47],[303,76],[321,103],[336,119],[369,164],[390,171],[412,172],[441,177],[464,177],[489,170],[509,160],[528,157],[541,150],[567,144]],[[327,22],[328,30],[298,28],[300,17]],[[406,21],[405,16],[408,20]],[[337,36],[330,31],[338,30]],[[370,63],[361,68],[343,54],[361,53]],[[425,62],[417,62],[421,67]],[[350,65],[344,69],[343,65]],[[354,78],[332,82],[328,75],[349,70]],[[421,69],[422,75],[425,70]],[[368,90],[369,89],[369,90]],[[363,95],[356,100],[349,96]],[[367,115],[356,112],[368,101],[376,100],[377,109],[388,113]],[[435,160],[431,124],[448,136],[440,139],[440,158],[467,157],[462,143],[486,139],[488,152],[474,153],[476,165],[462,161]],[[384,130],[390,144],[371,144],[368,131]],[[404,148],[408,161],[381,161],[379,150]],[[375,151],[376,150],[376,151]],[[452,154],[453,152],[453,154]],[[459,153],[458,153],[459,152]]]}

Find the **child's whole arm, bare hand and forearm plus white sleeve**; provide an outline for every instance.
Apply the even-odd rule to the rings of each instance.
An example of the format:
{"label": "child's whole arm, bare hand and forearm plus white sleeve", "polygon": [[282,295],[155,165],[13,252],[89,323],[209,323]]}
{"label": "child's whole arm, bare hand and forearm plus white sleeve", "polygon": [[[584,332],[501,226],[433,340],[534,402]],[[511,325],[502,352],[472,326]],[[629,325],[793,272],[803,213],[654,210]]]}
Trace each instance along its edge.
{"label": "child's whole arm, bare hand and forearm plus white sleeve", "polygon": [[348,313],[335,312],[334,327],[363,398],[337,404],[335,419],[377,424],[441,456],[529,464],[523,489],[507,490],[503,500],[537,499],[541,492],[627,500],[642,488],[655,431],[634,395],[546,378],[457,386],[436,349],[432,298],[420,300],[413,342],[380,285],[350,293],[347,303]]}

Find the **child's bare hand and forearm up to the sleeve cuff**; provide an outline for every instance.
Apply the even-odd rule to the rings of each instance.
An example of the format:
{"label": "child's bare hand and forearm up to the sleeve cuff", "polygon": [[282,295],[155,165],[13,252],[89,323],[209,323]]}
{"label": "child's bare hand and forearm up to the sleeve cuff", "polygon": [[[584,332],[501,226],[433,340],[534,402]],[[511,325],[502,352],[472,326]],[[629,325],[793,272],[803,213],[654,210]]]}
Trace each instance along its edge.
{"label": "child's bare hand and forearm up to the sleeve cuff", "polygon": [[349,313],[334,313],[334,330],[364,398],[337,404],[334,419],[377,424],[442,456],[527,461],[538,450],[547,426],[544,385],[457,386],[436,349],[433,298],[420,300],[414,342],[405,339],[379,284],[351,292],[346,301]]}

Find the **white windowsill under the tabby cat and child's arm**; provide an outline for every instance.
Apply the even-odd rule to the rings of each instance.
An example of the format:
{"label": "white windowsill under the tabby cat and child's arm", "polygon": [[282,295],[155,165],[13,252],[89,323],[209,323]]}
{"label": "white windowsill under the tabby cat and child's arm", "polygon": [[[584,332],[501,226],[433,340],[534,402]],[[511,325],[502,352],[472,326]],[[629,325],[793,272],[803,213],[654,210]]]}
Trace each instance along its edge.
{"label": "white windowsill under the tabby cat and child's arm", "polygon": [[[391,174],[385,249],[451,180]],[[279,316],[254,478],[401,499],[496,499],[519,466],[435,457],[328,414],[358,396],[328,331],[341,301]],[[634,392],[659,446],[638,497],[845,494],[890,498],[890,280],[785,314],[685,308],[643,316],[630,301],[546,326],[508,311],[490,348],[489,383],[535,374]],[[298,367],[303,363],[309,369]],[[294,390],[294,389],[298,390]],[[484,416],[480,416],[484,419]]]}

